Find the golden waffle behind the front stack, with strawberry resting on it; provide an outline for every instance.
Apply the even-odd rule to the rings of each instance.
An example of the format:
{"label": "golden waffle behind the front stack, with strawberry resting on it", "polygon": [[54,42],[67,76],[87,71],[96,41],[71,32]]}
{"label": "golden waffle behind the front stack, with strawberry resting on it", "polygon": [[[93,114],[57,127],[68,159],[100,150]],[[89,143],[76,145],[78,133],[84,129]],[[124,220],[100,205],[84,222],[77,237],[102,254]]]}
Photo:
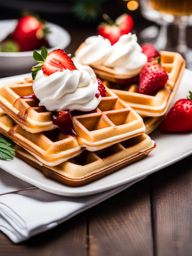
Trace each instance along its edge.
{"label": "golden waffle behind the front stack, with strawberry resting on it", "polygon": [[141,116],[159,117],[163,116],[175,93],[179,87],[184,68],[185,61],[178,53],[161,52],[161,65],[168,72],[169,79],[166,86],[156,95],[144,95],[138,93],[138,86],[126,86],[119,84],[109,84],[113,92],[124,102],[128,103]]}

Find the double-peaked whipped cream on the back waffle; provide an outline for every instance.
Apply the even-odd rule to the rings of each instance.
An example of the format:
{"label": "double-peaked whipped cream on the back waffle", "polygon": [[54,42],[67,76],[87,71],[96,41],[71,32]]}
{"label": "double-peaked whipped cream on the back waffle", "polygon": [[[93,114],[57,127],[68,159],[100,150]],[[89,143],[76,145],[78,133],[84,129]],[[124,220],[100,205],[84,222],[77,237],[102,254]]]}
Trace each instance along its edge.
{"label": "double-peaked whipped cream on the back waffle", "polygon": [[111,68],[116,74],[130,77],[139,74],[147,62],[136,35],[131,33],[122,35],[114,45],[101,36],[89,37],[76,56],[80,63],[102,65]]}

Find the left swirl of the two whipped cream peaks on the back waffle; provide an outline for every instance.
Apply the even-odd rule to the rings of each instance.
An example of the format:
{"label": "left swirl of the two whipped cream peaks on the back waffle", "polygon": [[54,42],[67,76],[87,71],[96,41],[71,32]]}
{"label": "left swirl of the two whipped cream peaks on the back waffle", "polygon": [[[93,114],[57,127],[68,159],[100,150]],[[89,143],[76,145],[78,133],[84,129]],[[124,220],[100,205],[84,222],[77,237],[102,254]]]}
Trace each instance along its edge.
{"label": "left swirl of the two whipped cream peaks on the back waffle", "polygon": [[77,60],[84,65],[100,65],[111,51],[111,43],[102,36],[88,37],[76,52]]}

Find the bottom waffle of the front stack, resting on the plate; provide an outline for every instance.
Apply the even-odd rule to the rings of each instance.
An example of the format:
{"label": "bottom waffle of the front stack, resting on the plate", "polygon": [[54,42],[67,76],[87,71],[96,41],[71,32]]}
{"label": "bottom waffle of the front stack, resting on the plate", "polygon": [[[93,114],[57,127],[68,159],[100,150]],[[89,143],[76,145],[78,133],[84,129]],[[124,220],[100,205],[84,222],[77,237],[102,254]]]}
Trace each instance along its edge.
{"label": "bottom waffle of the front stack, resting on the plate", "polygon": [[81,186],[144,158],[154,147],[154,141],[143,134],[94,153],[83,151],[79,156],[55,167],[42,165],[20,147],[17,147],[16,152],[18,157],[47,177],[70,186]]}

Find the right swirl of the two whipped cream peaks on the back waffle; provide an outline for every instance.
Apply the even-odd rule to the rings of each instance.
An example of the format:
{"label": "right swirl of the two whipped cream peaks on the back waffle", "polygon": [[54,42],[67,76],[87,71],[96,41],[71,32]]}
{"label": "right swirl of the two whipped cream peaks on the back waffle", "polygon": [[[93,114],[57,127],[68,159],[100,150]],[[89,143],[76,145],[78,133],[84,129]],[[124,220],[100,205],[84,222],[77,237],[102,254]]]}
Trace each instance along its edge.
{"label": "right swirl of the two whipped cream peaks on the back waffle", "polygon": [[146,62],[147,57],[142,53],[136,35],[129,33],[122,35],[111,47],[110,55],[103,65],[113,68],[115,73],[132,77],[139,74]]}

